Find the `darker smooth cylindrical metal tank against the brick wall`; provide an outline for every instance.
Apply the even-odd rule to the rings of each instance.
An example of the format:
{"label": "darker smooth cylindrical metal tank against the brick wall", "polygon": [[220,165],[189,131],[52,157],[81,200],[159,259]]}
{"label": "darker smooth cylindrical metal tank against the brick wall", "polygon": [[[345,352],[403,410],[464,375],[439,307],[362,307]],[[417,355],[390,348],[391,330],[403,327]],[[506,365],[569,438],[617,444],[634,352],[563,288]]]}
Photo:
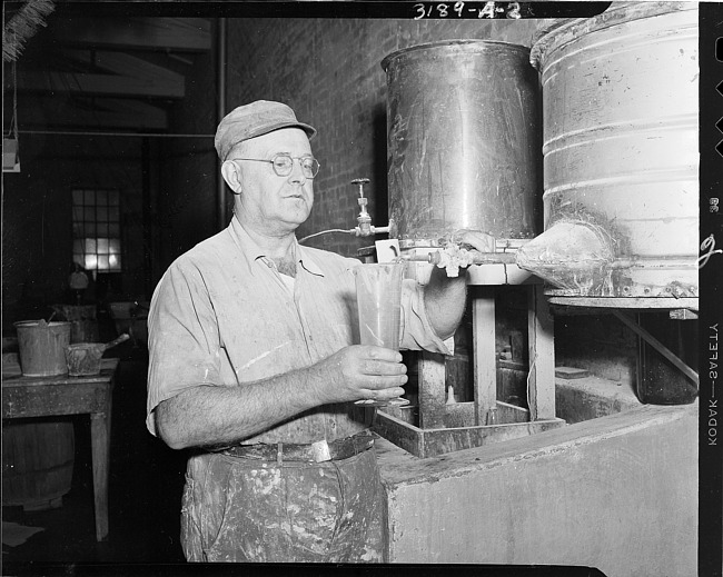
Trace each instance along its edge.
{"label": "darker smooth cylindrical metal tank against the brick wall", "polygon": [[538,235],[538,79],[529,50],[450,40],[390,53],[382,67],[389,218],[402,247],[437,246],[464,228],[497,239]]}

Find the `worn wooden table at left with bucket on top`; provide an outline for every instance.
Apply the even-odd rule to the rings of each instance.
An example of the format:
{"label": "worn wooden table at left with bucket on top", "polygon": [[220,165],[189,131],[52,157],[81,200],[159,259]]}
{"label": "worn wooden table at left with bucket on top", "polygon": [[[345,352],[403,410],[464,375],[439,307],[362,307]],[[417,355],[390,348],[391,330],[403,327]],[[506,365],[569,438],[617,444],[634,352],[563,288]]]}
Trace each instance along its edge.
{"label": "worn wooden table at left with bucket on top", "polygon": [[[4,355],[3,355],[4,357]],[[24,377],[19,367],[2,367],[2,418],[90,415],[96,538],[108,537],[108,462],[110,415],[118,359],[102,359],[92,377]],[[14,370],[13,370],[14,369]]]}

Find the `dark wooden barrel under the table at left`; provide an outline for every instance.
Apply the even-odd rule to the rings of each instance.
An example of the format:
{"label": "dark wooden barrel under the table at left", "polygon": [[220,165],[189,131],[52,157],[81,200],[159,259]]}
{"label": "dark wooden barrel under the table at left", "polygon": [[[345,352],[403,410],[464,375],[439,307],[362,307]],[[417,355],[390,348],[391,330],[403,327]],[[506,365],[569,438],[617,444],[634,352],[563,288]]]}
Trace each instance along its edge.
{"label": "dark wooden barrel under the table at left", "polygon": [[62,496],[70,490],[75,454],[72,422],[3,422],[3,507],[59,507]]}

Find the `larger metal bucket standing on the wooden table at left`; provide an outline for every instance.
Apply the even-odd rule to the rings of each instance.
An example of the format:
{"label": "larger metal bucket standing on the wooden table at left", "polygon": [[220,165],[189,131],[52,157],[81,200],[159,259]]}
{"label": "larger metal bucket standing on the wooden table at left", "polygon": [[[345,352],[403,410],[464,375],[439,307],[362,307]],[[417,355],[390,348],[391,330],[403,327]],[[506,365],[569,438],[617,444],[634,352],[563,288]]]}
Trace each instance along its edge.
{"label": "larger metal bucket standing on the wooden table at left", "polygon": [[21,320],[18,331],[20,368],[26,377],[66,375],[66,347],[70,344],[70,322]]}

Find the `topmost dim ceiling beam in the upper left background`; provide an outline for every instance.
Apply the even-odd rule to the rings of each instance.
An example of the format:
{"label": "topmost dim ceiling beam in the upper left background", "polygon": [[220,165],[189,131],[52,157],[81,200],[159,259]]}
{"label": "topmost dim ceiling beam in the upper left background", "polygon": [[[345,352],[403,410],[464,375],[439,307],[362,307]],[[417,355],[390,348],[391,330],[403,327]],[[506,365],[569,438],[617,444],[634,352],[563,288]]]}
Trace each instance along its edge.
{"label": "topmost dim ceiling beam in the upper left background", "polygon": [[211,49],[211,24],[204,18],[73,18],[53,29],[58,40],[97,48],[178,50]]}

